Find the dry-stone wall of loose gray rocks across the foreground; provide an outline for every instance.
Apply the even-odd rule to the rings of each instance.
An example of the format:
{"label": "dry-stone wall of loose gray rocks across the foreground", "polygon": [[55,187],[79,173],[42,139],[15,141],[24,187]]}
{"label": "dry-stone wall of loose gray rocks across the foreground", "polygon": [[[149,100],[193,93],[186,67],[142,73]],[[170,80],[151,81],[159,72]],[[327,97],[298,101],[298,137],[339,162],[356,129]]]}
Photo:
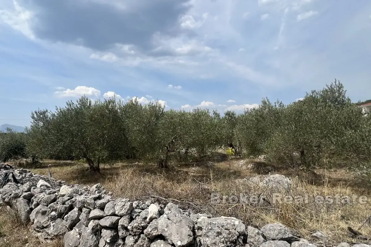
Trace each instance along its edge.
{"label": "dry-stone wall of loose gray rocks across the foreground", "polygon": [[40,239],[62,237],[65,247],[316,246],[282,224],[259,230],[236,218],[193,214],[173,203],[113,198],[101,184],[70,185],[26,169],[0,170],[0,178],[10,172],[16,181],[12,176],[0,181],[0,205],[17,210]]}

